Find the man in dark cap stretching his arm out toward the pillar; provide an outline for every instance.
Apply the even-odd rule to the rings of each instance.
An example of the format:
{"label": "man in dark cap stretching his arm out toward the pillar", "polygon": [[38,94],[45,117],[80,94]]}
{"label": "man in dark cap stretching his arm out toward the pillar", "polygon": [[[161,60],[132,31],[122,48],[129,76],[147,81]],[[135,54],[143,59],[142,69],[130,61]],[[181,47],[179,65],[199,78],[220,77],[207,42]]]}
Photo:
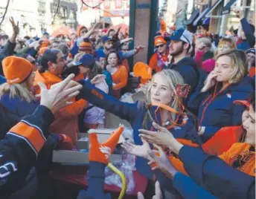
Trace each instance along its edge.
{"label": "man in dark cap stretching his arm out toward the pillar", "polygon": [[[102,64],[102,62],[104,62],[106,54],[109,53],[109,50],[112,50],[114,47],[114,42],[115,40],[112,39],[112,37],[109,36],[103,36],[101,38],[101,42],[103,43],[103,50],[95,50],[95,57],[97,61],[100,61],[100,63]],[[119,56],[122,59],[128,58],[129,56],[133,56],[136,53],[139,53],[139,51],[144,50],[144,46],[139,45],[138,47],[136,47],[134,50],[129,50],[126,53],[123,53],[121,51],[119,51]]]}

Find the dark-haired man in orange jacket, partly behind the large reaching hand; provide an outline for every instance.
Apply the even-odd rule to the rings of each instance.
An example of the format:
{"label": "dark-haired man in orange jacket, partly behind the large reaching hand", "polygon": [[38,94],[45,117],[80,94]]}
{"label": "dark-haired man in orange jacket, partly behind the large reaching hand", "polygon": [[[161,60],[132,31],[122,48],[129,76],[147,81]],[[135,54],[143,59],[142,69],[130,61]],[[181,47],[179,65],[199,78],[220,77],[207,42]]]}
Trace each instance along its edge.
{"label": "dark-haired man in orange jacket, partly behind the large reaching hand", "polygon": [[[57,49],[46,50],[42,55],[40,64],[41,66],[36,71],[34,79],[36,94],[40,93],[40,88],[38,87],[39,82],[43,82],[48,89],[52,85],[62,82],[65,56],[63,52]],[[75,99],[71,99],[71,101],[73,102],[71,105],[65,106],[65,108],[62,108],[55,114],[56,120],[51,125],[50,131],[56,134],[68,135],[75,144],[78,130],[77,116],[86,107],[87,102],[85,100],[76,101]]]}

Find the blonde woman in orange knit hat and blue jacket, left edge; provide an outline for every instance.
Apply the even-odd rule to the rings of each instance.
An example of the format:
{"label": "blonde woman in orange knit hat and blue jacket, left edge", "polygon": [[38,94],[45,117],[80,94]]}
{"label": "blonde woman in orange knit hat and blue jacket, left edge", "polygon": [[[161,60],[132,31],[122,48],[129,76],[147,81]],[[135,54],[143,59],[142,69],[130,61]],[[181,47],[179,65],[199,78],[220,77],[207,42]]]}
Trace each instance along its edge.
{"label": "blonde woman in orange knit hat and blue jacket, left edge", "polygon": [[32,89],[33,65],[18,56],[7,56],[2,65],[7,82],[0,85],[0,102],[19,117],[33,113],[39,105]]}

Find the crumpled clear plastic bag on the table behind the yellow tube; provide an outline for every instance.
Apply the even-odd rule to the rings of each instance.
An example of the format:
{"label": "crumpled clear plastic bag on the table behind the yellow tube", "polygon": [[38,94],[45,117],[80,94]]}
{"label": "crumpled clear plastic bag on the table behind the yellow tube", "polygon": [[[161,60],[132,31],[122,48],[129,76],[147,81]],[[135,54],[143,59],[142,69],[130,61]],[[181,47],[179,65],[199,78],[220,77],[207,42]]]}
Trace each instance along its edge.
{"label": "crumpled clear plastic bag on the table behind the yellow tube", "polygon": [[[124,173],[127,179],[127,193],[132,193],[135,187],[135,181],[132,173],[132,171],[135,170],[135,156],[125,153],[123,154],[123,160],[117,160],[112,164]],[[112,172],[112,170],[107,166],[105,169],[105,183],[122,188],[121,177],[119,177],[118,174]]]}

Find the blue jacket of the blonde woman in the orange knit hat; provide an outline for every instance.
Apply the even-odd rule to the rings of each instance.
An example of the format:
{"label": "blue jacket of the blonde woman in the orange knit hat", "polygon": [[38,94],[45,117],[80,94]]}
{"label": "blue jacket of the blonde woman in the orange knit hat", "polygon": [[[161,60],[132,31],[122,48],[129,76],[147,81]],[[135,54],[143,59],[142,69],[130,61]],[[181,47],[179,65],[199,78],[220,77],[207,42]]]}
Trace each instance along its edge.
{"label": "blue jacket of the blonde woman in the orange knit hat", "polygon": [[0,102],[19,117],[32,114],[39,105],[39,102],[37,101],[28,103],[19,97],[10,98],[9,94],[4,94],[1,97]]}

